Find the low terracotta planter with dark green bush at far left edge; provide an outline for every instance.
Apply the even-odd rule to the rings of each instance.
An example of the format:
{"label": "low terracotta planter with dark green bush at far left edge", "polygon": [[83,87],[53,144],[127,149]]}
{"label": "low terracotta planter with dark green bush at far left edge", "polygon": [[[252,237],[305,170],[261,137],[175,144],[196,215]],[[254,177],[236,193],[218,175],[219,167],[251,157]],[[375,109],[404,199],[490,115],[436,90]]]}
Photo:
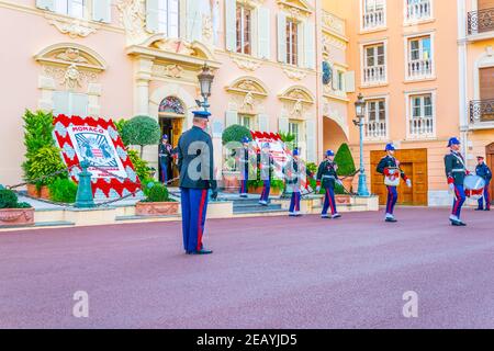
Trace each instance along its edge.
{"label": "low terracotta planter with dark green bush at far left edge", "polygon": [[22,225],[34,225],[34,208],[20,203],[12,190],[0,189],[0,226]]}

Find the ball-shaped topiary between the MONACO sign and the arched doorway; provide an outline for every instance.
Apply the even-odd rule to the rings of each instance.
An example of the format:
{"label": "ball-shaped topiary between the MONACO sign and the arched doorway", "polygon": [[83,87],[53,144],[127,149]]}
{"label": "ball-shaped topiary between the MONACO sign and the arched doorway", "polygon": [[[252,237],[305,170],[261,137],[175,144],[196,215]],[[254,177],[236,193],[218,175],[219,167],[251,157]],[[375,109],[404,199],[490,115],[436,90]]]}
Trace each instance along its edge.
{"label": "ball-shaped topiary between the MONACO sign and the arched doorway", "polygon": [[161,129],[156,120],[149,116],[135,116],[122,125],[122,140],[125,145],[138,145],[141,158],[146,145],[156,145],[161,137]]}

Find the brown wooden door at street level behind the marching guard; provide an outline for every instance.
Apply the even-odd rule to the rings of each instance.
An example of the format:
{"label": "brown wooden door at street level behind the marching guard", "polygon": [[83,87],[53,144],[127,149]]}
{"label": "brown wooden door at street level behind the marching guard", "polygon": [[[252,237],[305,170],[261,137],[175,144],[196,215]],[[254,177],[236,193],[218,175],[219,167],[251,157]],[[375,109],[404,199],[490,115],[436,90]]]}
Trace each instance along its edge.
{"label": "brown wooden door at street level behind the marching guard", "polygon": [[[378,173],[378,163],[384,151],[371,151],[371,190],[379,195],[379,203],[386,203],[388,190],[384,185],[384,178]],[[412,180],[412,189],[406,186],[402,180],[400,182],[398,204],[413,206],[427,206],[428,204],[428,178],[427,178],[427,149],[408,149],[396,151],[396,159],[401,162],[401,168]]]}

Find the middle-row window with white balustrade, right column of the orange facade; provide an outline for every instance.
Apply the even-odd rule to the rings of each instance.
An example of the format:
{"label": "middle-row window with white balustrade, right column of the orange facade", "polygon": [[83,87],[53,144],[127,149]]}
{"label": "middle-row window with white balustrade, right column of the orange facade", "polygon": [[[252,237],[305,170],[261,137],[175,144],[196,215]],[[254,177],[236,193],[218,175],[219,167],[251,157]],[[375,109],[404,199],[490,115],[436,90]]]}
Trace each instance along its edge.
{"label": "middle-row window with white balustrade, right column of the orange facade", "polygon": [[433,76],[433,44],[430,36],[408,41],[408,79],[424,79]]}

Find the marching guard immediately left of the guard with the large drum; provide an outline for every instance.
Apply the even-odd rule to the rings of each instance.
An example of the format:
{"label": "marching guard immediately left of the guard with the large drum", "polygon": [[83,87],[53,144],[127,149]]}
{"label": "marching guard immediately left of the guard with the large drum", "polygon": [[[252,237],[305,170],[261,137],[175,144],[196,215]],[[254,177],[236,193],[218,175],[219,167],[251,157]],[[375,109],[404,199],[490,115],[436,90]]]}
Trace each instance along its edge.
{"label": "marching guard immediately left of the guard with the large drum", "polygon": [[451,192],[454,192],[454,201],[449,220],[451,225],[457,227],[464,227],[464,224],[460,219],[461,207],[463,206],[467,195],[464,193],[464,178],[470,172],[467,170],[463,156],[460,154],[460,140],[456,137],[449,139],[448,147],[451,152],[445,156],[446,177],[448,178],[448,184]]}

